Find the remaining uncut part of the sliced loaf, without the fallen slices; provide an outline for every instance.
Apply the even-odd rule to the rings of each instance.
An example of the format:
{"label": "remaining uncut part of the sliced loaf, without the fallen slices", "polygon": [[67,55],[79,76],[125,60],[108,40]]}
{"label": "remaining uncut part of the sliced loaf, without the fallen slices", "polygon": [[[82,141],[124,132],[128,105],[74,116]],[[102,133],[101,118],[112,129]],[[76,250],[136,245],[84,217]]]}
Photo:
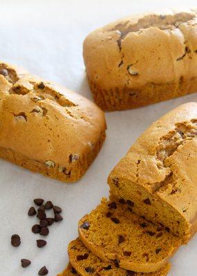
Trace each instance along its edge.
{"label": "remaining uncut part of the sliced loaf, without the fallen slices", "polygon": [[197,103],[185,103],[131,146],[109,175],[110,193],[188,242],[197,230],[196,152]]}

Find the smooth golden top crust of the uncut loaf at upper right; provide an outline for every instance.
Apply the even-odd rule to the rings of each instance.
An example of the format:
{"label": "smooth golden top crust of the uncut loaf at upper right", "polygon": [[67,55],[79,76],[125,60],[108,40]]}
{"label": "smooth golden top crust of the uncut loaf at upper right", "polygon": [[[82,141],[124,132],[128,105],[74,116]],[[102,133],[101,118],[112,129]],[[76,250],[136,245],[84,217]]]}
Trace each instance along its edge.
{"label": "smooth golden top crust of the uncut loaf at upper right", "polygon": [[88,34],[84,62],[102,89],[140,88],[196,77],[196,10],[130,16]]}

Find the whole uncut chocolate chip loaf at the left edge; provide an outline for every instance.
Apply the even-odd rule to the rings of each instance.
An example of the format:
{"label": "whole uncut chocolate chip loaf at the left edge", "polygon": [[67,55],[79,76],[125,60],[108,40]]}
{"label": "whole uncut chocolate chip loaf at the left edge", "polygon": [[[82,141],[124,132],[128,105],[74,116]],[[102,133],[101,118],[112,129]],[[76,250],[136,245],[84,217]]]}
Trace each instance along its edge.
{"label": "whole uncut chocolate chip loaf at the left edge", "polygon": [[105,130],[104,113],[88,99],[0,63],[0,157],[77,181],[99,152]]}

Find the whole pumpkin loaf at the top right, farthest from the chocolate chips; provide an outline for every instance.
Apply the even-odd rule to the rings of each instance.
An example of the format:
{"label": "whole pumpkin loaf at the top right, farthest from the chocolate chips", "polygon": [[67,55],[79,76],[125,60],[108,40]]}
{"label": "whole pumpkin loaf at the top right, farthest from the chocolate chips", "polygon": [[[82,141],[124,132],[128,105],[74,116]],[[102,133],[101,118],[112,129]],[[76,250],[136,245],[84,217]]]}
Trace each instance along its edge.
{"label": "whole pumpkin loaf at the top right, farthest from the chocolate chips", "polygon": [[196,14],[140,14],[91,32],[84,62],[98,106],[124,110],[196,92]]}

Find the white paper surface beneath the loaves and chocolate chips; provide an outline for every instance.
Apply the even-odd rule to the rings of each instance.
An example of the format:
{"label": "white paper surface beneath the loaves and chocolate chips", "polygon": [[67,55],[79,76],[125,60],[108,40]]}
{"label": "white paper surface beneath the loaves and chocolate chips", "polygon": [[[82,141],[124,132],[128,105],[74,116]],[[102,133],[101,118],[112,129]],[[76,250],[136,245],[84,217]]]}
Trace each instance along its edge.
{"label": "white paper surface beneath the loaves and chocolate chips", "polygon": [[[186,3],[187,2],[187,3]],[[110,21],[134,12],[157,8],[194,6],[196,1],[132,0],[0,0],[0,59],[24,66],[45,79],[61,83],[92,99],[82,60],[86,34]],[[196,95],[153,106],[106,113],[108,125],[104,146],[86,175],[76,184],[64,184],[0,160],[0,275],[33,276],[41,266],[55,276],[68,262],[67,245],[77,237],[77,221],[108,194],[106,178],[142,131],[165,112],[196,101]],[[32,200],[50,199],[62,206],[64,221],[50,227],[45,248],[31,233],[35,218],[27,215]],[[19,248],[10,245],[18,233]],[[182,246],[171,260],[170,276],[196,276],[197,236]],[[20,259],[32,261],[24,269]]]}

